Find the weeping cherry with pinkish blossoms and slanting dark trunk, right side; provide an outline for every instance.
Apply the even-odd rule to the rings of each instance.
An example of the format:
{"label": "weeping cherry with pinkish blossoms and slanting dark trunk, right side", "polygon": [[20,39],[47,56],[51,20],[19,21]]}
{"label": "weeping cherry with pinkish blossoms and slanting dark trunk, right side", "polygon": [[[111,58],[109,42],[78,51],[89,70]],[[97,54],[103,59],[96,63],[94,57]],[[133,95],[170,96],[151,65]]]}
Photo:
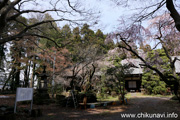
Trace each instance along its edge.
{"label": "weeping cherry with pinkish blossoms and slanting dark trunk, right side", "polygon": [[[160,17],[162,18],[162,17]],[[176,61],[179,61],[177,57],[171,57],[171,53],[167,50],[169,47],[171,48],[172,46],[168,46],[167,41],[171,39],[178,39],[178,34],[176,30],[172,29],[173,24],[169,24],[170,21],[169,19],[163,18],[160,19],[157,25],[157,32],[151,31],[152,34],[150,35],[150,31],[144,29],[144,31],[141,31],[142,26],[137,26],[137,25],[132,25],[130,27],[126,27],[123,31],[120,31],[119,33],[114,34],[114,37],[117,39],[117,41],[121,41],[125,44],[125,46],[122,46],[121,44],[118,44],[119,48],[126,49],[130,52],[132,52],[137,58],[139,58],[143,64],[141,66],[147,67],[153,71],[155,71],[161,78],[162,81],[164,81],[167,85],[174,85],[174,91],[176,96],[178,97],[180,101],[180,79],[176,74],[175,70],[175,63]],[[148,31],[148,32],[147,32]],[[169,32],[170,31],[170,32]],[[158,40],[159,42],[155,45],[154,48],[156,48],[159,44],[162,45],[163,50],[165,51],[165,55],[168,58],[168,64],[170,66],[170,72],[171,74],[167,74],[166,72],[162,71],[164,68],[159,68],[157,66],[154,66],[152,61],[145,60],[143,56],[138,54],[134,49],[131,44],[129,44],[129,40],[134,40],[134,41],[140,41],[142,43],[143,40],[147,40],[147,38],[143,38],[142,34],[147,34],[147,37],[153,40]],[[140,36],[141,35],[141,36]],[[155,38],[155,39],[154,39]],[[179,40],[178,40],[179,41]],[[179,48],[179,47],[178,47]],[[177,49],[178,49],[177,48]],[[173,48],[174,49],[174,48]],[[159,55],[156,55],[157,59],[160,59]]]}

